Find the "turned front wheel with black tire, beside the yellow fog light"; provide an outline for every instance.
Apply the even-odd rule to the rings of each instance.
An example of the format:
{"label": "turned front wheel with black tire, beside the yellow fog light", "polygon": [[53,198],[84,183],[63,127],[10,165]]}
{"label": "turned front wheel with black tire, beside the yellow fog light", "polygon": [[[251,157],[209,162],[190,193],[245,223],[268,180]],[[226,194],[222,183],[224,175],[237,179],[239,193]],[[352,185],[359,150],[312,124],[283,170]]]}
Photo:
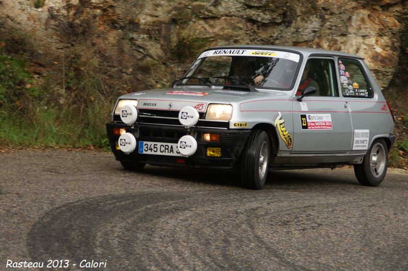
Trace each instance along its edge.
{"label": "turned front wheel with black tire, beside the yellow fog light", "polygon": [[262,189],[268,175],[269,157],[268,134],[263,130],[252,131],[241,156],[241,180],[248,188]]}

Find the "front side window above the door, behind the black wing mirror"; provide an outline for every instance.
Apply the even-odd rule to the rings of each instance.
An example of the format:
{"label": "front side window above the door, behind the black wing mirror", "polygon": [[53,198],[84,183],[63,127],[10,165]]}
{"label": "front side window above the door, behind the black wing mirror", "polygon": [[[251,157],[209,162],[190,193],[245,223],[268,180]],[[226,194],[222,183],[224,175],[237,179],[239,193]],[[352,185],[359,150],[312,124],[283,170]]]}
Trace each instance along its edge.
{"label": "front side window above the door, behind the black wing mirror", "polygon": [[304,67],[297,95],[308,87],[315,87],[313,96],[339,97],[335,61],[333,59],[309,59]]}

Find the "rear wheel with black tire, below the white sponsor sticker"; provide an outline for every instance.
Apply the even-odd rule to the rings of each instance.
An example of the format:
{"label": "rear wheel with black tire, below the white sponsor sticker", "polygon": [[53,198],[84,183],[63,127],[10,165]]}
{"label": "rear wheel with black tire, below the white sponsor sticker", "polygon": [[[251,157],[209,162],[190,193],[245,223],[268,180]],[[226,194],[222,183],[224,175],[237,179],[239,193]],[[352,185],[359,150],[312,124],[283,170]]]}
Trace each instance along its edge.
{"label": "rear wheel with black tire, below the white sponsor sticker", "polygon": [[379,185],[387,173],[388,149],[384,139],[373,142],[362,164],[354,165],[354,174],[357,180],[366,186]]}

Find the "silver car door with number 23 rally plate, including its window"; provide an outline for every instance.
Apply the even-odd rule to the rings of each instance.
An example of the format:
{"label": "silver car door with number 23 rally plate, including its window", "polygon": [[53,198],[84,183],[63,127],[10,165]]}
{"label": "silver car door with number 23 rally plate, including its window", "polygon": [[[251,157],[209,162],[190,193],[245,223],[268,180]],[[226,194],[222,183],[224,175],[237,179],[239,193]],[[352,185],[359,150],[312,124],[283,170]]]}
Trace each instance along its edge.
{"label": "silver car door with number 23 rally plate, including its window", "polygon": [[317,92],[302,101],[296,100],[298,96],[294,98],[291,153],[348,153],[352,141],[351,117],[348,103],[339,93],[341,75],[335,59],[312,57],[308,62],[306,77],[310,79],[309,85],[315,82],[312,85],[317,86]]}

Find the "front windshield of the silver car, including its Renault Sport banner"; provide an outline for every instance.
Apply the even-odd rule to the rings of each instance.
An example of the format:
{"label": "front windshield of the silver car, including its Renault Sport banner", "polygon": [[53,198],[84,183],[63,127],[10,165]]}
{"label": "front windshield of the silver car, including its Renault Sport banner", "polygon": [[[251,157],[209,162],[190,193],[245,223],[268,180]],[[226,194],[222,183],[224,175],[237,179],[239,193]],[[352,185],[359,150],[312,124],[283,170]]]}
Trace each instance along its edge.
{"label": "front windshield of the silver car, including its Renault Sport banner", "polygon": [[290,90],[299,59],[295,53],[272,50],[205,51],[177,85],[231,85]]}

